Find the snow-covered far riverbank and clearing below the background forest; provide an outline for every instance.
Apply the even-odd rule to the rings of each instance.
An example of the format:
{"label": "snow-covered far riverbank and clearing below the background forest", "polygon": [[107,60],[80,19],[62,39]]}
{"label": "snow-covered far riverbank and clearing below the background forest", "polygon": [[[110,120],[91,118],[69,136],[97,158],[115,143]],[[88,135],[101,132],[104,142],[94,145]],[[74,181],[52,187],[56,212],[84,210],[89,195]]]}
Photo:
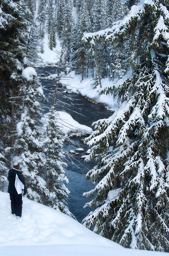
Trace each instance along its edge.
{"label": "snow-covered far riverbank and clearing below the background forest", "polygon": [[[43,59],[41,67],[51,67],[51,70],[56,67],[55,71],[51,71],[50,74],[42,74],[44,75],[43,78],[49,79],[49,80],[55,80],[57,77],[57,63],[59,61],[59,52],[61,51],[60,46],[60,40],[58,39],[56,35],[56,41],[57,45],[56,48],[53,48],[51,51],[49,49],[48,45],[48,35],[45,33],[44,37],[44,53],[40,53],[39,55]],[[116,111],[120,105],[121,101],[119,99],[114,99],[114,96],[111,94],[106,95],[106,93],[103,93],[103,90],[106,88],[110,88],[112,86],[115,86],[116,88],[124,83],[125,80],[127,80],[128,77],[132,75],[132,71],[128,71],[127,74],[121,78],[121,79],[114,79],[114,81],[110,80],[110,78],[102,78],[101,84],[102,88],[100,88],[100,85],[96,86],[94,85],[94,79],[92,75],[88,74],[88,77],[84,77],[82,81],[81,75],[76,75],[75,71],[71,71],[67,76],[64,72],[61,72],[62,79],[60,79],[60,83],[63,87],[65,87],[66,90],[81,94],[81,96],[86,97],[88,100],[91,100],[95,103],[101,104],[103,107],[107,108],[109,111],[114,112]],[[42,77],[41,77],[42,78]],[[102,94],[101,94],[102,92]]]}

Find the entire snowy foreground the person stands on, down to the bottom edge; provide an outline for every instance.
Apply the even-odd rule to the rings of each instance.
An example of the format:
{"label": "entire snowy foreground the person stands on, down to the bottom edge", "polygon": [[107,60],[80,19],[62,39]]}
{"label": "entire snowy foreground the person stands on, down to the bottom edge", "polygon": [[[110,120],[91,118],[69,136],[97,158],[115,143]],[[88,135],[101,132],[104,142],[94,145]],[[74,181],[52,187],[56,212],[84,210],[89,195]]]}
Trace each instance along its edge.
{"label": "entire snowy foreground the person stands on, down to the bottom edge", "polygon": [[0,255],[3,256],[162,256],[124,249],[96,235],[62,212],[23,197],[22,217],[11,214],[8,193],[0,192]]}

